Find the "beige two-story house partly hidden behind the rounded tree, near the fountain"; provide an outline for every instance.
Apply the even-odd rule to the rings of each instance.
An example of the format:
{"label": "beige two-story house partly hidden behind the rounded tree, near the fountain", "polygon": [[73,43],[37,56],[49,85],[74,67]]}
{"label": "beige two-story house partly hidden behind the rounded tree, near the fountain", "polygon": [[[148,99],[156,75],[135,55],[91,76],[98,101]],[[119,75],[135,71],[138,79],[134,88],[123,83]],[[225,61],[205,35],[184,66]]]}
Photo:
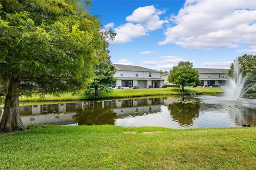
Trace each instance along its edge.
{"label": "beige two-story house partly hidden behind the rounded tree, near the fountain", "polygon": [[[228,69],[202,69],[195,68],[199,73],[199,80],[201,81],[201,87],[221,87],[227,86],[227,74]],[[168,81],[170,73],[165,73],[161,75],[164,79],[165,85],[171,85]]]}

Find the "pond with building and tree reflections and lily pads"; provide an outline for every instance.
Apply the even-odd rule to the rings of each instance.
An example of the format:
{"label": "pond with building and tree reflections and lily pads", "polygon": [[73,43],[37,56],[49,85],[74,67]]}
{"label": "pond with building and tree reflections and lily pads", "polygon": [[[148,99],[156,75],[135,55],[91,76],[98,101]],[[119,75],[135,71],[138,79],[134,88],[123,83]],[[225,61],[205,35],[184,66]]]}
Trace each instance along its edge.
{"label": "pond with building and tree reflections and lily pads", "polygon": [[[222,96],[138,98],[22,106],[23,123],[57,125],[162,126],[166,128],[256,126],[256,100],[225,100]],[[0,108],[0,115],[3,108]]]}

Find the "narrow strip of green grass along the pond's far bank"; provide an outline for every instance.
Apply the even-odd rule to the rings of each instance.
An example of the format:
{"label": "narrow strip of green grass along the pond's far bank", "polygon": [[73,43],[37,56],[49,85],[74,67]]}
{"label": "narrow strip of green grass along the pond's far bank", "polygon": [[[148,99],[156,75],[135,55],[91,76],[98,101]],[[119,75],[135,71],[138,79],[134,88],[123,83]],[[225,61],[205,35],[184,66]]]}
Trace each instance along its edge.
{"label": "narrow strip of green grass along the pond's far bank", "polygon": [[[186,88],[186,92],[195,92],[196,94],[215,94],[223,92],[223,88]],[[159,88],[159,89],[115,89],[112,92],[103,92],[100,96],[79,94],[61,94],[60,96],[46,95],[44,98],[38,96],[20,97],[20,101],[42,101],[42,100],[73,100],[73,99],[97,99],[97,98],[118,98],[118,97],[136,97],[136,96],[159,96],[159,95],[179,95],[182,94],[180,88]]]}

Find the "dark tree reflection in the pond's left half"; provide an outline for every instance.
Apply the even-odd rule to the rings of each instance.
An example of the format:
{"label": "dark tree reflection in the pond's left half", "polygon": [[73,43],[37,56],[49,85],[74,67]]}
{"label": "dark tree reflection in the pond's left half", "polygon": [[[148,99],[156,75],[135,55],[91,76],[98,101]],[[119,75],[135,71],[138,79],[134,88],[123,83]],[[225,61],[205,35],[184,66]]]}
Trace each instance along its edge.
{"label": "dark tree reflection in the pond's left half", "polygon": [[94,102],[93,107],[84,106],[73,116],[78,125],[115,124],[116,113],[111,107],[102,108],[101,102]]}

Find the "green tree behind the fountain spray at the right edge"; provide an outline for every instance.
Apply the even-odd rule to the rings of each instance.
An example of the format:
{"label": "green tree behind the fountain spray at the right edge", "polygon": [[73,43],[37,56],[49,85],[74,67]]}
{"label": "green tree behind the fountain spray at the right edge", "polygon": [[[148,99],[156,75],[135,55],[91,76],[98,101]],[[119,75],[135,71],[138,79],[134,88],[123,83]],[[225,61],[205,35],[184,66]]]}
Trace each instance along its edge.
{"label": "green tree behind the fountain spray at the right edge", "polygon": [[[256,55],[244,54],[238,57],[240,71],[247,76],[246,84],[256,83]],[[231,63],[229,76],[233,77],[234,63]]]}

